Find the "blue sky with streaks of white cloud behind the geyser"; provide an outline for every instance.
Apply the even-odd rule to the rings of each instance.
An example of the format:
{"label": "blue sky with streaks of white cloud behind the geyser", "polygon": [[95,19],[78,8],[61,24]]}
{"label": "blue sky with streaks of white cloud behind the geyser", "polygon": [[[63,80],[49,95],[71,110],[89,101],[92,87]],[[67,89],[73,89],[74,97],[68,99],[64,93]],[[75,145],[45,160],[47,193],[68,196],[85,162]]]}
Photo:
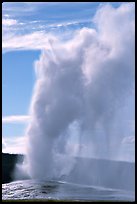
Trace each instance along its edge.
{"label": "blue sky with streaks of white cloud behind the geyser", "polygon": [[[3,149],[18,152],[23,138],[35,83],[34,62],[49,39],[71,38],[75,30],[94,27],[100,2],[2,4],[2,119]],[[121,3],[111,3],[118,7]],[[134,117],[131,117],[134,126]],[[19,140],[20,138],[20,140]],[[15,141],[15,142],[13,142]],[[17,143],[18,141],[18,143]],[[21,141],[19,143],[19,141]],[[15,146],[18,148],[15,149]]]}

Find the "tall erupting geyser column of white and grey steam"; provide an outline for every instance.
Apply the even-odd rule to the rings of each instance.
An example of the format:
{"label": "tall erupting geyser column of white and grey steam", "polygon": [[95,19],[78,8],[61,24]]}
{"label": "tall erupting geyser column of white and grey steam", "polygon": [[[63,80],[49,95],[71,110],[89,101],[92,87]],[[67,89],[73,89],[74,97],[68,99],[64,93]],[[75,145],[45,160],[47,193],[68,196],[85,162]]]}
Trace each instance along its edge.
{"label": "tall erupting geyser column of white and grey steam", "polygon": [[68,175],[74,156],[119,159],[130,136],[123,107],[134,100],[134,23],[134,4],[107,5],[96,13],[95,29],[42,51],[27,129],[32,178]]}

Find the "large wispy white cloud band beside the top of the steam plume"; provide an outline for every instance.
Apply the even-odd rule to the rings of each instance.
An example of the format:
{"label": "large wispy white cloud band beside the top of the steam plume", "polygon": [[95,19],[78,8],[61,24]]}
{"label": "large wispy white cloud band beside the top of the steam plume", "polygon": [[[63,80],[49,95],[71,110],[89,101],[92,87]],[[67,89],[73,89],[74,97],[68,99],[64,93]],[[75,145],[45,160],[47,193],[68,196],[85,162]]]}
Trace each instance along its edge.
{"label": "large wispy white cloud band beside the top of the steam plume", "polygon": [[[46,24],[45,21],[30,21],[26,25],[25,22],[3,19],[3,53],[13,50],[50,49],[49,40],[57,42],[58,37],[64,38],[71,36],[74,30],[84,25],[88,27],[90,24],[91,22],[89,20],[85,20],[53,24]],[[61,35],[62,29],[63,35]]]}

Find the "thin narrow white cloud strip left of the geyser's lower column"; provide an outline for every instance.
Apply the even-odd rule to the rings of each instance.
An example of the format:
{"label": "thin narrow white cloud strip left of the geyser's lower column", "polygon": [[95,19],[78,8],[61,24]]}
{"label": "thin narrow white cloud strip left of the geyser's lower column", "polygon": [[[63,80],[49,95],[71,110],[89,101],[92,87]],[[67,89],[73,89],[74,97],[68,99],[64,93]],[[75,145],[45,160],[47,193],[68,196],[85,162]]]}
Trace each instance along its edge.
{"label": "thin narrow white cloud strip left of the geyser's lower column", "polygon": [[27,123],[30,120],[28,115],[11,115],[2,117],[2,123]]}

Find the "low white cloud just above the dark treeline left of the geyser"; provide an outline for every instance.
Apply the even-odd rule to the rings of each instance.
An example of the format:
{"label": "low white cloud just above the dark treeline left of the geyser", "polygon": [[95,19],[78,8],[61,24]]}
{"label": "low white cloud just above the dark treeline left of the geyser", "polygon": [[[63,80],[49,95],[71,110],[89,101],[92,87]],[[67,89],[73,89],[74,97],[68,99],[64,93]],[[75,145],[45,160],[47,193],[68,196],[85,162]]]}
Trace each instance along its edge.
{"label": "low white cloud just above the dark treeline left of the geyser", "polygon": [[2,152],[11,154],[26,154],[27,137],[2,138]]}

